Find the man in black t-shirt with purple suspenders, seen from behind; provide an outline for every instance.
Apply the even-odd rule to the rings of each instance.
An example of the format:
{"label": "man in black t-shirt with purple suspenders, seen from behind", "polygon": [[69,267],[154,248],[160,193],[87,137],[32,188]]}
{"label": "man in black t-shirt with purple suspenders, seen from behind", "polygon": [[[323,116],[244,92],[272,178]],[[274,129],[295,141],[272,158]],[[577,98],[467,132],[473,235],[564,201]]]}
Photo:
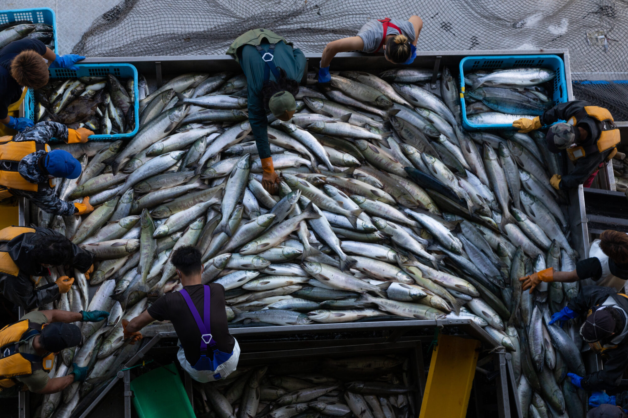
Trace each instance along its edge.
{"label": "man in black t-shirt with purple suspenders, seen from behind", "polygon": [[183,289],[161,296],[130,322],[122,321],[122,326],[124,338],[132,338],[134,343],[142,338],[139,330],[144,326],[170,320],[179,337],[176,357],[181,367],[194,380],[205,383],[225,378],[236,370],[240,346],[229,334],[225,288],[218,283],[201,284],[200,259],[200,251],[195,247],[176,249],[170,260]]}

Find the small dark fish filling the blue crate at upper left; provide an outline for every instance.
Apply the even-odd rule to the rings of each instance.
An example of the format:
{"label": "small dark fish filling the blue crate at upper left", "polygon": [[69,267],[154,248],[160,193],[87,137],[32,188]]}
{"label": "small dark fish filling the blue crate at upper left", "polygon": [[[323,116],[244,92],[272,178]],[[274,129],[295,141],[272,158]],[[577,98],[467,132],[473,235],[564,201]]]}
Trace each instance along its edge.
{"label": "small dark fish filling the blue crate at upper left", "polygon": [[135,129],[133,77],[50,78],[34,95],[35,122],[85,127],[96,135],[128,134]]}

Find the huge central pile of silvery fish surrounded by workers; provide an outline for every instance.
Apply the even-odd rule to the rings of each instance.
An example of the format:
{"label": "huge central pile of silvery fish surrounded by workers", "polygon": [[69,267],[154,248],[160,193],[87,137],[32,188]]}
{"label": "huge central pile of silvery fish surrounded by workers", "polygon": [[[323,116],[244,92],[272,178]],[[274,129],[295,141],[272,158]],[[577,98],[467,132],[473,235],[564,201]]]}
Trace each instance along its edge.
{"label": "huge central pile of silvery fish surrounded by workers", "polygon": [[[203,283],[225,289],[230,327],[471,319],[512,352],[526,411],[582,416],[565,380],[582,375],[582,341],[575,324],[546,322],[577,284],[530,295],[518,280],[578,257],[563,193],[549,185],[558,164],[542,132],[465,131],[452,73],[443,68],[436,92],[430,77],[347,71],[317,85],[308,74],[293,119],[268,116],[277,195],[261,185],[243,75],[188,73],[152,92],[140,77],[131,141],[57,145],[84,164],[58,194],[90,196],[94,212],[33,211],[100,260],[94,297],[78,280],[57,306],[112,313],[82,324],[83,345],[59,363],[95,362],[92,377],[106,375],[124,350],[119,319],[180,289],[170,254],[195,245]],[[83,387],[50,395],[42,414],[76,409]]]}

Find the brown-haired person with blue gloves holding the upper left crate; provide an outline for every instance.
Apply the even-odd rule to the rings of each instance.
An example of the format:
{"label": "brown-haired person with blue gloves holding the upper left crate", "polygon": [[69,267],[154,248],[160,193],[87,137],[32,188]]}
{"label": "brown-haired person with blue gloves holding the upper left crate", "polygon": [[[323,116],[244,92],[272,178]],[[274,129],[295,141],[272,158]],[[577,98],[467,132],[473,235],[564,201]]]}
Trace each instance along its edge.
{"label": "brown-haired person with blue gloves holding the upper left crate", "polygon": [[[13,41],[0,50],[0,136],[14,135],[33,126],[25,117],[15,117],[28,88],[48,83],[50,68],[77,70],[74,64],[84,60],[76,54],[57,55],[37,39]],[[47,62],[46,62],[47,60]],[[26,87],[26,88],[24,88]],[[6,128],[10,129],[6,129]]]}

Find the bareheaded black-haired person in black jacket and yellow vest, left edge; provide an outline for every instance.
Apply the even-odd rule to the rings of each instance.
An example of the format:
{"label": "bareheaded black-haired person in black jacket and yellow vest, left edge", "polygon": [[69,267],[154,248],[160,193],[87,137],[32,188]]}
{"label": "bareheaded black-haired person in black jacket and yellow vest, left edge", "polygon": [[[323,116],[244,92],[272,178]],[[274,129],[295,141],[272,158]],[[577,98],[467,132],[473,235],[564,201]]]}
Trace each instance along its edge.
{"label": "bareheaded black-haired person in black jacket and yellow vest, left edge", "polygon": [[89,279],[93,263],[94,254],[50,228],[0,230],[0,294],[24,309],[44,306],[70,291],[74,278],[68,276],[35,287],[41,276],[50,275],[48,267],[67,265]]}

